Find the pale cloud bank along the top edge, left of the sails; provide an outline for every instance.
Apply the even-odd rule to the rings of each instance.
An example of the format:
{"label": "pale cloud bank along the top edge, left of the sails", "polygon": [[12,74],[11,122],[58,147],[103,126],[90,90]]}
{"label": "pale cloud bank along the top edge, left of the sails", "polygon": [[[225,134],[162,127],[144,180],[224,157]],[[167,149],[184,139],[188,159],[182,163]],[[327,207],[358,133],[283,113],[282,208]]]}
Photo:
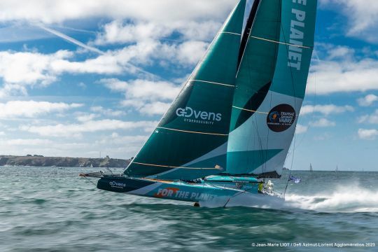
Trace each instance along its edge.
{"label": "pale cloud bank along the top edge, left of the sails", "polygon": [[[202,20],[225,18],[235,0],[12,0],[0,2],[0,21],[26,20],[45,24],[86,18],[154,20]],[[148,6],[148,7],[146,7]],[[216,10],[216,11],[214,11]]]}

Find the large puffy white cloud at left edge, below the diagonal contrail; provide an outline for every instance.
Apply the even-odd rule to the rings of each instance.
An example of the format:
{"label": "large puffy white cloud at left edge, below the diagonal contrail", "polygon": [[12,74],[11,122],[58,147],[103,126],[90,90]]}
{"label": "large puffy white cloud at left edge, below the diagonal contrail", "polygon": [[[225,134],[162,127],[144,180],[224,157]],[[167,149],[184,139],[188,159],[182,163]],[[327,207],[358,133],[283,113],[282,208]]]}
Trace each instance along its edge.
{"label": "large puffy white cloud at left edge, below the diagonal contrail", "polygon": [[131,65],[147,63],[153,55],[155,47],[144,47],[144,44],[132,45],[120,50],[108,51],[104,55],[87,58],[83,61],[74,59],[75,53],[59,50],[55,53],[40,52],[0,52],[0,78],[3,87],[0,96],[5,97],[12,92],[26,94],[27,86],[46,86],[55,82],[64,73],[95,73],[102,75],[118,75],[132,73],[134,75],[152,76],[151,73]]}

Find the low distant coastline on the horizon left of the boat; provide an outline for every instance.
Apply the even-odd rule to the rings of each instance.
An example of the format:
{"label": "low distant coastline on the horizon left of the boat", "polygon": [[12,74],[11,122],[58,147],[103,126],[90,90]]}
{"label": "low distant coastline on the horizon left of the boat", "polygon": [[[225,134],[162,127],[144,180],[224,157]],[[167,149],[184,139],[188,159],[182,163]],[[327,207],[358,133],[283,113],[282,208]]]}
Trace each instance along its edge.
{"label": "low distant coastline on the horizon left of the boat", "polygon": [[125,168],[131,160],[116,158],[43,157],[42,155],[0,155],[0,166],[30,167],[113,167]]}

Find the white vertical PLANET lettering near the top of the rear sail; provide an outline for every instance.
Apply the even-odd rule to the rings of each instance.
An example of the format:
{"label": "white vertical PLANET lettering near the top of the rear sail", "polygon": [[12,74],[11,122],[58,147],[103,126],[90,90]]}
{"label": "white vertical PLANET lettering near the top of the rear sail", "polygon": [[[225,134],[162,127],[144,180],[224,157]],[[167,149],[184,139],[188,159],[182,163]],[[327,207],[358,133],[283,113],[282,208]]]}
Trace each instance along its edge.
{"label": "white vertical PLANET lettering near the top of the rear sail", "polygon": [[[288,50],[288,66],[300,71],[302,66],[303,39],[304,39],[304,21],[306,20],[306,11],[300,10],[300,7],[306,6],[307,0],[293,0],[295,8],[292,8],[291,14],[293,19],[290,22],[290,46]],[[295,46],[297,45],[297,46]]]}

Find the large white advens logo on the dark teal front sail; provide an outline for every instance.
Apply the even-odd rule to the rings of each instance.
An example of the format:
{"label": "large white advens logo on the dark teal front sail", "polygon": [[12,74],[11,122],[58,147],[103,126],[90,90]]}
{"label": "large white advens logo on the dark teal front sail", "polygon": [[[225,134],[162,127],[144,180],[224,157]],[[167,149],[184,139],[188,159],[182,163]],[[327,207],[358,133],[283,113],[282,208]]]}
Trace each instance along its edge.
{"label": "large white advens logo on the dark teal front sail", "polygon": [[214,112],[196,111],[190,107],[176,110],[176,115],[184,118],[187,123],[200,123],[213,125],[214,122],[221,122],[222,114]]}

